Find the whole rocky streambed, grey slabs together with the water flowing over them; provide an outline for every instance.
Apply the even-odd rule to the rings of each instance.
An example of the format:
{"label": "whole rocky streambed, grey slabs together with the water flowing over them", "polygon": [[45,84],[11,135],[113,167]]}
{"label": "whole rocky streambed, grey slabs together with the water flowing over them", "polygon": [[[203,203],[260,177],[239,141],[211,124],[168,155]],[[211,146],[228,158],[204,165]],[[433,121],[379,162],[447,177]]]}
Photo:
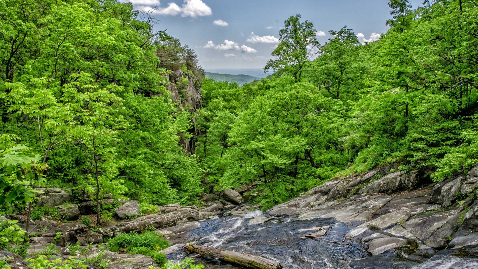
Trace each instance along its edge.
{"label": "whole rocky streambed, grey slabs together with the water flowing over them", "polygon": [[[229,203],[209,202],[203,209],[175,204],[162,207],[162,213],[103,227],[97,234],[153,227],[170,241],[171,247],[162,252],[173,260],[186,257],[182,246],[192,243],[269,258],[292,269],[474,269],[477,183],[478,167],[435,185],[426,173],[378,168],[328,181],[266,212]],[[233,194],[235,203],[241,203]],[[90,240],[81,238],[92,233],[84,227],[61,225],[72,230],[66,234]],[[45,229],[38,244],[48,237],[46,230],[54,228]],[[126,268],[125,259],[134,268],[153,264],[142,255],[107,254],[113,260],[110,268]],[[65,250],[65,255],[71,254]],[[89,255],[95,255],[95,247]],[[202,256],[194,259],[206,268],[237,268]]]}

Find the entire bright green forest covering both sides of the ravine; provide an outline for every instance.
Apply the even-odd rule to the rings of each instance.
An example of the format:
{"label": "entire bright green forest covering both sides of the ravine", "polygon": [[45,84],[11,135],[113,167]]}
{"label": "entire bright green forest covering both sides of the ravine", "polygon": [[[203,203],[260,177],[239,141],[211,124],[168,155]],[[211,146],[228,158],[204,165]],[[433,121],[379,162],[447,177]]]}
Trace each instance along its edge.
{"label": "entire bright green forest covering both sides of the ravine", "polygon": [[264,68],[275,73],[240,86],[204,78],[194,50],[130,3],[0,0],[0,215],[25,216],[28,231],[50,210],[36,204],[44,187],[91,202],[97,229],[118,205],[107,199],[157,213],[243,186],[268,209],[382,166],[430,183],[467,171],[478,164],[478,4],[389,5],[390,29],[366,44],[347,26],[319,44],[314,24],[291,16]]}

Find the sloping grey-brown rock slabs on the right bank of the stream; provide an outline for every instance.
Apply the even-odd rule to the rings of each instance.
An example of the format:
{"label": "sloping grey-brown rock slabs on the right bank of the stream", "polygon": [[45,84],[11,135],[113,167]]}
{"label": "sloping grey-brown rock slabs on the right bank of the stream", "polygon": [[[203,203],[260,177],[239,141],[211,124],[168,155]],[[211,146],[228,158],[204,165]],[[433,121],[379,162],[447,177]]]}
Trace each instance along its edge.
{"label": "sloping grey-brown rock slabs on the right bank of the stream", "polygon": [[267,213],[335,218],[351,227],[343,240],[366,244],[372,256],[398,251],[426,259],[447,247],[478,246],[478,202],[467,196],[476,191],[478,166],[434,186],[423,186],[426,173],[384,172],[328,181]]}

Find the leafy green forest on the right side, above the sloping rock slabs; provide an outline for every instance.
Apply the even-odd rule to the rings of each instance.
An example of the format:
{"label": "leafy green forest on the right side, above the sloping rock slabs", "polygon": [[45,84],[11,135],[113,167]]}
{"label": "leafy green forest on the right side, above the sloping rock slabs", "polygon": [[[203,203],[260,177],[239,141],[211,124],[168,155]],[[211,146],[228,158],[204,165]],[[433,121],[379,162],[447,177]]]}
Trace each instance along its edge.
{"label": "leafy green forest on the right side, above the sloping rock slabs", "polygon": [[[391,27],[361,45],[352,29],[317,44],[291,17],[266,69],[237,87],[205,81],[196,154],[221,188],[257,184],[264,208],[338,175],[391,164],[447,179],[478,162],[478,8],[391,1]],[[294,36],[294,29],[301,29]],[[309,61],[308,45],[318,47]],[[291,65],[291,63],[293,63]]]}

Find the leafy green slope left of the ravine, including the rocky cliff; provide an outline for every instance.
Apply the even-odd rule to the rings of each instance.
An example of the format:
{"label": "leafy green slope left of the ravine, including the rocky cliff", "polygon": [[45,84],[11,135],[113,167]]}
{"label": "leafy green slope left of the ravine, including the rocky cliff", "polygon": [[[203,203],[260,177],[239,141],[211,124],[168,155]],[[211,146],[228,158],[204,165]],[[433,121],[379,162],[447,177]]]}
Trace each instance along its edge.
{"label": "leafy green slope left of the ravine, including the rocky cliff", "polygon": [[130,4],[0,5],[2,203],[45,184],[95,201],[195,203],[202,170],[179,143],[204,76],[194,51]]}

